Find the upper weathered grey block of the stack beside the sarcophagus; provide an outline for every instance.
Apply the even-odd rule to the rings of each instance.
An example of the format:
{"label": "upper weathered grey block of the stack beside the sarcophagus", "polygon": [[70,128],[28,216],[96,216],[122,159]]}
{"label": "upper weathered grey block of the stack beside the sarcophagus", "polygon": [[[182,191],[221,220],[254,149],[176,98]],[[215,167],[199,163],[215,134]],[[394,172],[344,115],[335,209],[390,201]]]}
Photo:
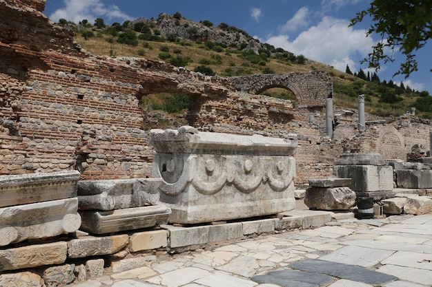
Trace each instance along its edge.
{"label": "upper weathered grey block of the stack beside the sarcophagus", "polygon": [[129,209],[159,202],[160,178],[90,180],[78,182],[81,210],[110,211]]}

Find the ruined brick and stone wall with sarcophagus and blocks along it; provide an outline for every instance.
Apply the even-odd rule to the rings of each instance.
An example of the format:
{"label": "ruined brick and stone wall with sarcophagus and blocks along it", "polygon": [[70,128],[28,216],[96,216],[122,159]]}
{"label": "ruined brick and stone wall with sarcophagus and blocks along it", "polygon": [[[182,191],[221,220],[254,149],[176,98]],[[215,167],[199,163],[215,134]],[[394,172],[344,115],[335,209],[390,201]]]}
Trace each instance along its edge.
{"label": "ruined brick and stone wall with sarcophagus and blocks along it", "polygon": [[[320,70],[222,78],[96,56],[44,3],[0,0],[0,282],[64,285],[151,251],[322,226],[334,215],[293,210],[309,186],[311,209],[368,196],[387,214],[431,212],[428,120],[364,114],[362,96],[338,109]],[[271,87],[295,103],[259,95]],[[155,92],[193,99],[188,126],[150,131],[139,100]]]}

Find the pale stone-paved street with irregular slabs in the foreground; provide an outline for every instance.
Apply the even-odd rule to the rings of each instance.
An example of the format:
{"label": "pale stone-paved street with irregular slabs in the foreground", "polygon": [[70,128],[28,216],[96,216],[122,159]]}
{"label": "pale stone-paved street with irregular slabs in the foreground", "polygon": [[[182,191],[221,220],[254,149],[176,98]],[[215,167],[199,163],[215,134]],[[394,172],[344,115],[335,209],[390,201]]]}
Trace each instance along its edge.
{"label": "pale stone-paved street with irregular slabs in the foreground", "polygon": [[354,218],[262,235],[70,287],[420,287],[432,285],[432,214]]}

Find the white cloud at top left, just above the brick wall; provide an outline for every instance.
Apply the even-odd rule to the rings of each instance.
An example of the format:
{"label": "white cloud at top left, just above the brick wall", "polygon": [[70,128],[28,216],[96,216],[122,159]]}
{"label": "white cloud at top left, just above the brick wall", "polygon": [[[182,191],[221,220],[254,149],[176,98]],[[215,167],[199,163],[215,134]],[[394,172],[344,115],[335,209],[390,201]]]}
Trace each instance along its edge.
{"label": "white cloud at top left, just above the brick wall", "polygon": [[64,7],[50,14],[50,19],[58,22],[63,18],[74,23],[87,19],[88,23],[94,23],[96,18],[112,21],[125,21],[132,19],[122,12],[119,7],[106,6],[101,0],[63,0]]}

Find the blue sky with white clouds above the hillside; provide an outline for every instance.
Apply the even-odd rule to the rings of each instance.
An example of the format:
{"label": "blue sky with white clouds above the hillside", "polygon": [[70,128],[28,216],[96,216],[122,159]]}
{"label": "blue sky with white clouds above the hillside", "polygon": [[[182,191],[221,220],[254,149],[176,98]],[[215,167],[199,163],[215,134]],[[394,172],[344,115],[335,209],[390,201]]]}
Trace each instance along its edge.
{"label": "blue sky with white clouds above the hillside", "polygon": [[[360,23],[349,28],[349,20],[369,7],[369,0],[47,0],[44,14],[52,21],[60,18],[78,23],[88,19],[94,23],[97,17],[106,24],[123,23],[139,17],[157,18],[160,13],[181,13],[186,19],[199,22],[211,21],[214,25],[226,23],[240,28],[261,42],[282,47],[296,55],[331,65],[345,71],[349,65],[352,72],[367,65],[360,64],[371,46],[379,38],[366,37],[370,23]],[[377,72],[381,80],[403,81],[412,89],[427,90],[432,95],[432,43],[417,53],[419,71],[405,79],[393,74],[398,70],[395,63],[386,64]]]}

